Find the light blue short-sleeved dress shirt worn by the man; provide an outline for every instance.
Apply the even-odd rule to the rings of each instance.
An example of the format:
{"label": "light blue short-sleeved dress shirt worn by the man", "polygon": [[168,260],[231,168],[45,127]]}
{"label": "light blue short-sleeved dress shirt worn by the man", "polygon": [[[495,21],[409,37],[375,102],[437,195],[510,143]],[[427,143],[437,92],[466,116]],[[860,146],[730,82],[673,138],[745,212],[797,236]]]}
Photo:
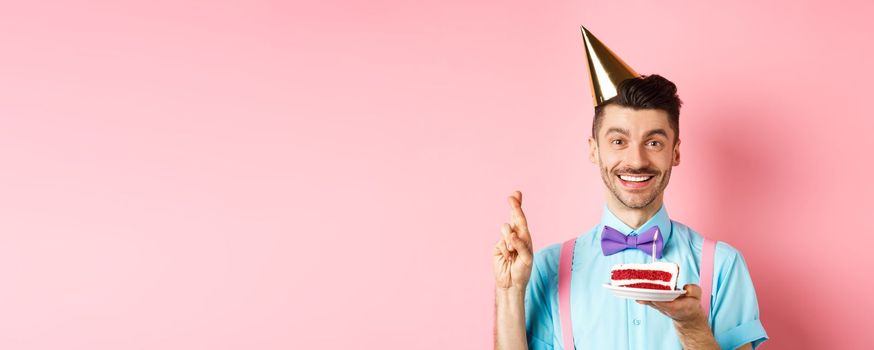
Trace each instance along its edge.
{"label": "light blue short-sleeved dress shirt worn by the man", "polygon": [[[665,245],[661,261],[680,265],[677,287],[699,284],[703,237],[686,225],[668,218],[664,206],[639,230],[620,221],[605,206],[601,223],[576,242],[571,276],[571,318],[577,349],[682,349],[673,321],[650,306],[621,299],[602,285],[610,282],[615,264],[648,263],[652,256],[626,249],[604,256],[601,231],[604,225],[625,235],[637,235],[658,225]],[[525,294],[525,328],[528,347],[564,349],[558,315],[558,256],[561,244],[534,254],[534,266]],[[768,339],[759,321],[759,304],[743,256],[734,247],[719,242],[714,255],[713,299],[710,327],[723,349],[746,343],[757,348]]]}

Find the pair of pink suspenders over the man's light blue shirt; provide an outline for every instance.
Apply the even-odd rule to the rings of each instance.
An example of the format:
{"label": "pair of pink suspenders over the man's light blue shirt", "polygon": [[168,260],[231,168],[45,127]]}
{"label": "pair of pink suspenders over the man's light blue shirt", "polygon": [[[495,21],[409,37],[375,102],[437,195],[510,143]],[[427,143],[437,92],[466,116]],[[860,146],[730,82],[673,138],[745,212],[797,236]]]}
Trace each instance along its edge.
{"label": "pair of pink suspenders over the man's light blue shirt", "polygon": [[[573,327],[571,326],[571,265],[574,260],[574,247],[577,239],[565,241],[561,245],[558,258],[558,314],[561,320],[561,336],[564,348],[572,350],[574,343]],[[710,295],[713,290],[713,255],[716,252],[716,241],[704,238],[701,248],[701,306],[704,315],[710,320]]]}

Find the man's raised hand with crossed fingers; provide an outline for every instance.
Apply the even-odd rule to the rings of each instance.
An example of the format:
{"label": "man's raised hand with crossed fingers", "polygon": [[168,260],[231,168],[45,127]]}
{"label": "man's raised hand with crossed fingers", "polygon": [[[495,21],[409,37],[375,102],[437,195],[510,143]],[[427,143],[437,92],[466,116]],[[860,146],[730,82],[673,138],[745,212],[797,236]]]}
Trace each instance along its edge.
{"label": "man's raised hand with crossed fingers", "polygon": [[507,202],[510,203],[510,223],[501,226],[501,239],[494,251],[495,287],[524,291],[534,260],[531,233],[522,212],[522,192],[513,192]]}

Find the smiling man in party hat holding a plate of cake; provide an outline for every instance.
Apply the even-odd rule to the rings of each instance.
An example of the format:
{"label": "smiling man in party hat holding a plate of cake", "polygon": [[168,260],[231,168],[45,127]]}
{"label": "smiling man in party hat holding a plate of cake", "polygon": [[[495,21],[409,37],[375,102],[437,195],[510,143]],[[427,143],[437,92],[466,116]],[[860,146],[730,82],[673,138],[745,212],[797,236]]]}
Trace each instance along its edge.
{"label": "smiling man in party hat holding a plate of cake", "polygon": [[[583,35],[591,35],[583,29]],[[592,37],[593,38],[593,37]],[[741,254],[719,242],[713,255],[710,296],[698,285],[704,238],[672,221],[663,205],[671,169],[680,163],[679,109],[676,86],[658,76],[639,76],[612,51],[590,49],[593,61],[614,63],[630,78],[615,86],[615,95],[596,97],[589,160],[601,171],[606,205],[601,222],[570,245],[572,338],[577,349],[754,349],[767,340],[759,321],[758,303]],[[594,43],[594,44],[593,44]],[[607,53],[611,57],[592,60]],[[604,71],[603,67],[599,67]],[[615,76],[615,74],[614,74]],[[606,79],[602,79],[602,82]],[[560,244],[532,255],[531,233],[522,211],[522,193],[508,198],[510,223],[501,227],[494,249],[496,329],[498,349],[573,349],[562,333],[558,282]],[[657,227],[664,236],[662,260],[680,265],[677,285],[686,294],[670,302],[633,301],[612,295],[602,285],[610,268],[619,263],[647,263],[651,256],[639,249],[606,252],[601,245],[605,227],[626,237]],[[636,238],[635,238],[636,241]],[[702,299],[704,298],[704,299]],[[701,301],[710,300],[709,315]]]}

